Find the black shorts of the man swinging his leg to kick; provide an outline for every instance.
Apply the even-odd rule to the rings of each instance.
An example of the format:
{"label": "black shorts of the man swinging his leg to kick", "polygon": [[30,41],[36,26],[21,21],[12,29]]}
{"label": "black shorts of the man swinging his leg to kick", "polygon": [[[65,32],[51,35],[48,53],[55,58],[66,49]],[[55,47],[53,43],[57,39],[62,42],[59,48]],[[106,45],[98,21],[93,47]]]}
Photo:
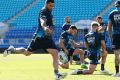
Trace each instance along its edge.
{"label": "black shorts of the man swinging his leg to kick", "polygon": [[43,49],[47,52],[47,49],[57,49],[54,41],[52,39],[44,38],[44,37],[37,37],[35,36],[30,45],[28,46],[27,50],[33,52],[38,49]]}

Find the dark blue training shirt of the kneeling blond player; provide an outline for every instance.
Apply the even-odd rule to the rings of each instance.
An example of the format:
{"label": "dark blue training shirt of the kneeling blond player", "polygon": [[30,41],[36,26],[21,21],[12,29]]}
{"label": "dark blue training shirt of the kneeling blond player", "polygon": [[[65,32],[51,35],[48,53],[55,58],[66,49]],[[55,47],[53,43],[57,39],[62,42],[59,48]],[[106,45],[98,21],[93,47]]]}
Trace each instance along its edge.
{"label": "dark blue training shirt of the kneeling blond player", "polygon": [[88,43],[88,50],[91,53],[95,53],[98,56],[100,55],[100,49],[101,49],[101,41],[104,40],[102,34],[98,32],[89,32],[85,36],[85,42]]}

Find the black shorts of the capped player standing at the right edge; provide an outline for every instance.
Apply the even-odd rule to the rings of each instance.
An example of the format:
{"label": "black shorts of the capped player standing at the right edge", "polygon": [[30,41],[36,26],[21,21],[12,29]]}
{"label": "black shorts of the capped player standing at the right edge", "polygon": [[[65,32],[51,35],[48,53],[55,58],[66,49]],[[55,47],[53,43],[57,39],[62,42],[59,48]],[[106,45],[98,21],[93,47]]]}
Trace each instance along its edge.
{"label": "black shorts of the capped player standing at the right edge", "polygon": [[120,49],[120,34],[119,35],[113,35],[113,49]]}

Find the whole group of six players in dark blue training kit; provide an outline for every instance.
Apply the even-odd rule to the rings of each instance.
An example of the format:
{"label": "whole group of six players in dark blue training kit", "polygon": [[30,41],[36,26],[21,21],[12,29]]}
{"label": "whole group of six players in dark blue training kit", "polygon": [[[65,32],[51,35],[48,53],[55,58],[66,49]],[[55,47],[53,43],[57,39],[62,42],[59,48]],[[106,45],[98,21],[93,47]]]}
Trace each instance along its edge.
{"label": "whole group of six players in dark blue training kit", "polygon": [[[106,28],[110,35],[112,44],[114,45],[115,53],[115,70],[116,73],[113,76],[120,76],[119,74],[119,54],[120,54],[120,1],[115,3],[116,10],[112,11],[109,15],[108,26],[102,22],[101,17],[97,17],[97,21],[91,23],[91,30],[85,36],[85,47],[87,50],[82,50],[81,44],[74,41],[74,35],[77,33],[77,27],[70,24],[69,17],[66,17],[66,23],[63,25],[63,32],[59,38],[60,50],[64,51],[68,56],[68,60],[72,60],[72,56],[80,55],[80,62],[82,68],[87,68],[85,70],[74,70],[71,74],[92,74],[99,60],[101,58],[101,72],[108,73],[105,70],[105,62],[107,57],[106,45],[105,45],[105,32]],[[50,53],[53,59],[53,68],[55,74],[55,80],[64,78],[66,73],[59,73],[59,65],[64,68],[69,68],[69,61],[67,63],[59,63],[58,61],[58,48],[56,47],[52,36],[54,33],[53,15],[52,9],[54,7],[54,0],[46,0],[44,7],[40,10],[38,22],[39,27],[33,36],[27,49],[25,48],[14,48],[9,47],[5,50],[4,55],[9,51],[12,52],[23,52],[24,55],[29,56],[33,51],[37,49],[43,49]],[[113,28],[113,30],[112,30]],[[113,32],[113,33],[112,33]],[[87,67],[84,63],[84,58],[87,57],[90,60],[90,65]]]}

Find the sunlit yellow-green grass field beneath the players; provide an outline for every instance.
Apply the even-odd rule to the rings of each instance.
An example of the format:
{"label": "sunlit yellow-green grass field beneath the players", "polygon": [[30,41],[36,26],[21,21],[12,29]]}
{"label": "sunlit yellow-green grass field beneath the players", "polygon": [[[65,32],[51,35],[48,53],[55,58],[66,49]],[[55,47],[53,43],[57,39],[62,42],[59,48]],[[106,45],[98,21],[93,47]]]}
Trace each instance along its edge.
{"label": "sunlit yellow-green grass field beneath the players", "polygon": [[[70,69],[60,68],[60,72],[70,73],[74,69],[80,69],[80,65],[70,65]],[[109,54],[106,69],[114,73],[114,55]],[[93,75],[68,75],[64,80],[120,80],[111,75],[104,75],[99,72],[97,66]],[[3,57],[0,54],[0,80],[54,80],[52,58],[49,54],[11,54]]]}

